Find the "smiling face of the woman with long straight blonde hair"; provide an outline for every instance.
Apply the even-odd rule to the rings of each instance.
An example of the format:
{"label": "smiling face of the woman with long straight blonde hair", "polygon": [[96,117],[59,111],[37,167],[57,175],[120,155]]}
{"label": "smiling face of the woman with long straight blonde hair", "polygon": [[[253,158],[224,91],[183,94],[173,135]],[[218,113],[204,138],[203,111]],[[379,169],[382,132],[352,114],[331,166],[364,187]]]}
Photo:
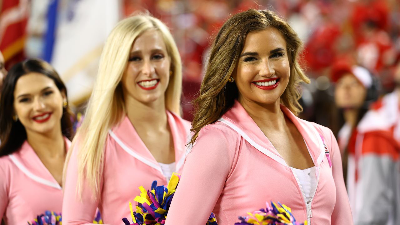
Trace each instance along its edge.
{"label": "smiling face of the woman with long straight blonde hair", "polygon": [[148,30],[138,36],[122,76],[125,100],[144,104],[160,101],[160,104],[164,104],[170,65],[171,60],[159,31]]}

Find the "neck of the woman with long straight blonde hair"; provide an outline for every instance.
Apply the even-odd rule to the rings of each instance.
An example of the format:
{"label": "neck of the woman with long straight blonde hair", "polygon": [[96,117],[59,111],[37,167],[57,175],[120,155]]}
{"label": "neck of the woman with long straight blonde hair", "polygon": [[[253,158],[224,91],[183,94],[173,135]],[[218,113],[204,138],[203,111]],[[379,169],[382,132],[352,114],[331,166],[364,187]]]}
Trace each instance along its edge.
{"label": "neck of the woman with long straight blonde hair", "polygon": [[164,98],[144,104],[132,98],[125,101],[126,114],[135,129],[168,127]]}

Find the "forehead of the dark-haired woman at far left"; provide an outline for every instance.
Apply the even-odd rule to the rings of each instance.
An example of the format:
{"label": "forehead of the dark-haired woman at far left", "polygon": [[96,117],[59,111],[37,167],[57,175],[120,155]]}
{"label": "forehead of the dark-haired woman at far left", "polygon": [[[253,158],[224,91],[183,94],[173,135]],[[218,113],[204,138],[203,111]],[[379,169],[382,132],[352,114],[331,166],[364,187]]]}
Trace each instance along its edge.
{"label": "forehead of the dark-haired woman at far left", "polygon": [[40,73],[28,73],[21,76],[15,85],[14,95],[35,94],[46,87],[56,87],[54,80]]}

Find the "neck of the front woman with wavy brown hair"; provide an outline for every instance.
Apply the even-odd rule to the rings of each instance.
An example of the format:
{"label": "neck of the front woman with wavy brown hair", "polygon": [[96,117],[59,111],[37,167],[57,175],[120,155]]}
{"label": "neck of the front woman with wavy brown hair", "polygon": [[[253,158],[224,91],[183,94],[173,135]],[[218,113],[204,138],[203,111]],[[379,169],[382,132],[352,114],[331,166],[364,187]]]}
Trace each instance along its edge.
{"label": "neck of the front woman with wavy brown hair", "polygon": [[238,99],[254,122],[260,127],[272,130],[281,130],[286,126],[285,116],[280,109],[279,99],[272,104],[259,104]]}

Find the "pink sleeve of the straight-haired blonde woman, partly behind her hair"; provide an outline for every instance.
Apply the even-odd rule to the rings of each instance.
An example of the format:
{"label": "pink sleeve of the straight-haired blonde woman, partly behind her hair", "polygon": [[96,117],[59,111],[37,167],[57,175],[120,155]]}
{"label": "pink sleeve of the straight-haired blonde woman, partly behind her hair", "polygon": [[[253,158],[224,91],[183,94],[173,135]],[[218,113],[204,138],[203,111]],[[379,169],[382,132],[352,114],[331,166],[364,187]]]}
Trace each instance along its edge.
{"label": "pink sleeve of the straight-haired blonde woman, partly behind her hair", "polygon": [[[96,208],[99,204],[99,197],[94,200],[92,190],[86,182],[83,184],[82,197],[80,198],[77,194],[78,150],[77,148],[70,150],[73,152],[66,171],[62,202],[62,223],[65,225],[93,224]],[[101,180],[100,187],[102,187],[102,183]],[[102,189],[99,192],[101,193],[101,191]]]}

